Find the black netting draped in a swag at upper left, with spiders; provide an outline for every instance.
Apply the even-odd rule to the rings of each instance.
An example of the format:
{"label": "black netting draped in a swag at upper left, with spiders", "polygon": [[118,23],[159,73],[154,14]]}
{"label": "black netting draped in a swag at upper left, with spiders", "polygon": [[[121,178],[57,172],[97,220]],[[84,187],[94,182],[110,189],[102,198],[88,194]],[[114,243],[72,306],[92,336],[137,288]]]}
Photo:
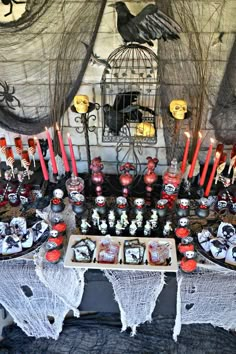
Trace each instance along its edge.
{"label": "black netting draped in a swag at upper left, with spiders", "polygon": [[0,81],[15,96],[10,107],[5,98],[0,102],[2,128],[29,135],[61,125],[81,85],[105,4],[28,0],[20,19],[0,22]]}

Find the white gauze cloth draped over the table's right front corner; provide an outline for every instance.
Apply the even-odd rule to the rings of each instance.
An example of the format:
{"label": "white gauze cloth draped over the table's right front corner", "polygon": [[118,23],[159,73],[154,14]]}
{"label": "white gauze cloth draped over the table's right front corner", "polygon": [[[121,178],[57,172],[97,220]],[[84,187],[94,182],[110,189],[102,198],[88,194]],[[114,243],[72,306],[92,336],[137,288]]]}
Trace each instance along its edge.
{"label": "white gauze cloth draped over the table's right front corner", "polygon": [[177,309],[173,338],[182,324],[210,323],[236,328],[236,272],[199,265],[193,274],[177,273]]}

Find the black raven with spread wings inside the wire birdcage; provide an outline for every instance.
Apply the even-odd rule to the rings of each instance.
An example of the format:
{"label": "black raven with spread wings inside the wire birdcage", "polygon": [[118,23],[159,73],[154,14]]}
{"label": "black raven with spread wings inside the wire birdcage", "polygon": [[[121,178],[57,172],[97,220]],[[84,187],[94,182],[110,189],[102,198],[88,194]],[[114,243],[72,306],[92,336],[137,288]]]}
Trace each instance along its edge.
{"label": "black raven with spread wings inside the wire birdcage", "polygon": [[119,134],[121,128],[128,121],[142,122],[143,113],[141,111],[155,115],[151,108],[137,104],[139,95],[139,91],[118,93],[112,106],[109,104],[103,106],[104,122],[115,135]]}

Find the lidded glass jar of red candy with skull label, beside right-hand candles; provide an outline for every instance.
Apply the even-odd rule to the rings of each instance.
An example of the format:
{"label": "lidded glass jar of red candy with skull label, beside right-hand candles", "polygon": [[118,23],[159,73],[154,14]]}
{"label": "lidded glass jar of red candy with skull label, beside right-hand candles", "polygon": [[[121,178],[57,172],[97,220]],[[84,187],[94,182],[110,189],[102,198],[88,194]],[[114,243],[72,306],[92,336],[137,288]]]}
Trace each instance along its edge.
{"label": "lidded glass jar of red candy with skull label, beside right-hand candles", "polygon": [[170,166],[163,175],[163,184],[161,198],[168,200],[169,208],[172,208],[178,197],[179,187],[181,183],[181,171],[178,169],[178,162],[174,158]]}

